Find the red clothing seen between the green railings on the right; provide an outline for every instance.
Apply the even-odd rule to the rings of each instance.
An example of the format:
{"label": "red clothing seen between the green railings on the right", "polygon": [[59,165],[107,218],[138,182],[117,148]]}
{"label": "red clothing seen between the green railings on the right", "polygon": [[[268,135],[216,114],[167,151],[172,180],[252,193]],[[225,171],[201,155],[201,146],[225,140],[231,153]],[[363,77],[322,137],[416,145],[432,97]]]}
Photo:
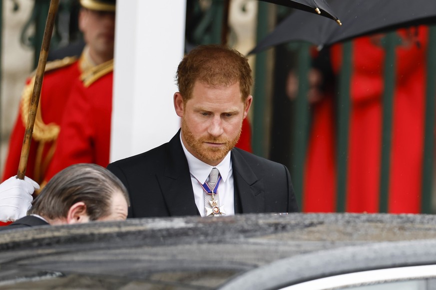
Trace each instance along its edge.
{"label": "red clothing seen between the green railings on the right", "polygon": [[[421,203],[426,55],[428,28],[397,31],[396,86],[391,147],[388,211],[418,213]],[[382,147],[382,97],[385,52],[380,36],[353,41],[351,118],[348,147],[348,212],[378,212]],[[341,45],[332,48],[336,72]],[[331,212],[336,207],[336,136],[334,106],[324,100],[315,108],[306,163],[303,210]],[[316,185],[314,185],[316,183]]]}

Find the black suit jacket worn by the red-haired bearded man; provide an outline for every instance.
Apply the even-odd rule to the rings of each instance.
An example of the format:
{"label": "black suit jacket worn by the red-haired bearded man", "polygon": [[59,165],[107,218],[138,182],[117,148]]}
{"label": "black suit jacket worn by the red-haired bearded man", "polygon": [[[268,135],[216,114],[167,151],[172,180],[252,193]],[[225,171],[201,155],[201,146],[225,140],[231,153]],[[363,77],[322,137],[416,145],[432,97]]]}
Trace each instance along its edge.
{"label": "black suit jacket worn by the red-haired bearded man", "polygon": [[[198,215],[180,130],[170,142],[110,163],[130,195],[129,217]],[[235,213],[298,211],[286,166],[244,150],[231,151]]]}

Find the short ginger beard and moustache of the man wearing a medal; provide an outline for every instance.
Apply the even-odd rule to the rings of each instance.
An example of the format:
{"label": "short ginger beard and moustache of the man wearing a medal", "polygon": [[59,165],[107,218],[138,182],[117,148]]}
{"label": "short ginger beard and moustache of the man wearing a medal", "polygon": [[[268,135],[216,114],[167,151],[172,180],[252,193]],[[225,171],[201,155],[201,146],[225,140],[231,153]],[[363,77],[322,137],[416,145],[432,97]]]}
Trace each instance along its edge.
{"label": "short ginger beard and moustache of the man wearing a medal", "polygon": [[[241,136],[242,122],[239,127],[238,135],[234,139],[228,138],[216,138],[212,136],[195,138],[191,130],[189,130],[188,125],[184,118],[182,118],[182,132],[183,137],[191,147],[191,149],[197,155],[200,160],[209,163],[221,161],[227,155],[227,153],[238,143],[239,137]],[[220,147],[210,147],[205,143],[218,143],[223,144]]]}

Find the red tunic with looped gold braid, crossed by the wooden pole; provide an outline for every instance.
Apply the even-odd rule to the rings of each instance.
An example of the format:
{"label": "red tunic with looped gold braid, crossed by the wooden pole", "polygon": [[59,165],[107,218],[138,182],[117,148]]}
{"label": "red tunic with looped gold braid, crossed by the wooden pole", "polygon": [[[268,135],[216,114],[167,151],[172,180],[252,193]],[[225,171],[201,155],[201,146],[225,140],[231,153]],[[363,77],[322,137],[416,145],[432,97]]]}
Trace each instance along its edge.
{"label": "red tunic with looped gold braid, crossed by the wooden pole", "polygon": [[[54,150],[65,103],[73,84],[80,75],[79,61],[73,58],[47,63],[39,98],[38,114],[30,143],[25,175],[40,183]],[[27,122],[34,77],[26,81],[18,116],[11,132],[2,181],[16,175]]]}

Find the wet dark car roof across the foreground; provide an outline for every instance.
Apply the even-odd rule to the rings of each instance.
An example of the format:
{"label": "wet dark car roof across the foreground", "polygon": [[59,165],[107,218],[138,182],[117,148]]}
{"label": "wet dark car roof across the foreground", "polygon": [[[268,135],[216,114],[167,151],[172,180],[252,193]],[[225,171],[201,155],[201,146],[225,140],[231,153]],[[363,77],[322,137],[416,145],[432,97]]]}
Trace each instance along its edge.
{"label": "wet dark car roof across the foreground", "polygon": [[280,289],[433,264],[433,215],[248,214],[0,232],[0,289]]}

